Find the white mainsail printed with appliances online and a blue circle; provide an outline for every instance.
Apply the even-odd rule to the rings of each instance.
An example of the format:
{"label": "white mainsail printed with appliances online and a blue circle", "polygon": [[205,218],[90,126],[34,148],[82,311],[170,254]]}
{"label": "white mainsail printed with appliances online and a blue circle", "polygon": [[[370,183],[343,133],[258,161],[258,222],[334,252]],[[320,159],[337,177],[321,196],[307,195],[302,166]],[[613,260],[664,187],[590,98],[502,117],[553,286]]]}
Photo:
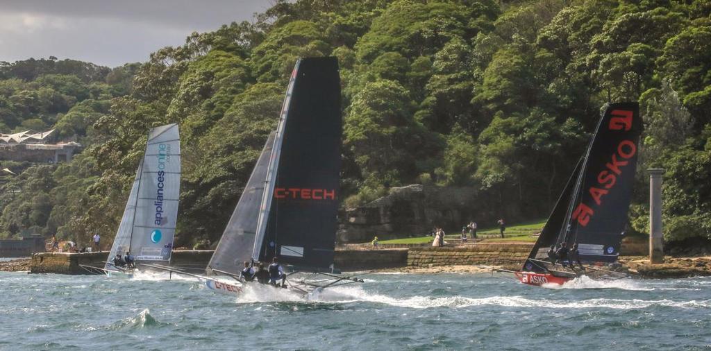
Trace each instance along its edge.
{"label": "white mainsail printed with appliances online and a blue circle", "polygon": [[178,124],[151,129],[134,215],[131,254],[137,261],[169,261],[180,195]]}

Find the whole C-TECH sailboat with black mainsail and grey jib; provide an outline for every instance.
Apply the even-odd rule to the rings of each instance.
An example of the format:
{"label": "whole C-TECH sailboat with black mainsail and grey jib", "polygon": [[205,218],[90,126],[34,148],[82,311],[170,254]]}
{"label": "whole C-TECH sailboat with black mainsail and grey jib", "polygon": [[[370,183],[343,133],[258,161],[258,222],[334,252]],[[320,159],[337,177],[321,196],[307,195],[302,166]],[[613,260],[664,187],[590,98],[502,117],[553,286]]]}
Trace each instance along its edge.
{"label": "whole C-TECH sailboat with black mainsail and grey jib", "polygon": [[297,293],[362,282],[333,274],[341,136],[338,61],[297,60],[277,129],[257,159],[206,275],[188,275],[212,290],[239,295],[245,261],[268,265],[278,257],[292,269],[289,289]]}

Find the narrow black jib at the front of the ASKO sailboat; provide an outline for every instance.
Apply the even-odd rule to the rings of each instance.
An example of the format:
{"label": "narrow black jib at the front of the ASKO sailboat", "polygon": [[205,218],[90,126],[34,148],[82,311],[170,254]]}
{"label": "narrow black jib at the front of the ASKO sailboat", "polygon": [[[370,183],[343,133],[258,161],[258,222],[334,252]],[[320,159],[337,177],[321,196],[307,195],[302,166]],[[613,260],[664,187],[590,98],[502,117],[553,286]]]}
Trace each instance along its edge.
{"label": "narrow black jib at the front of the ASKO sailboat", "polygon": [[570,207],[570,199],[575,189],[575,183],[579,178],[580,168],[582,168],[582,161],[583,158],[580,158],[577,166],[575,166],[575,170],[572,175],[570,175],[570,178],[568,178],[567,183],[565,183],[565,188],[563,188],[560,197],[557,202],[555,202],[555,207],[553,207],[553,211],[550,212],[550,216],[548,216],[548,220],[545,222],[545,227],[543,227],[543,230],[538,236],[538,240],[536,240],[533,249],[531,249],[530,254],[528,254],[528,259],[523,263],[523,271],[545,271],[541,264],[535,261],[529,261],[529,259],[547,260],[548,249],[550,249],[551,245],[557,244],[558,238],[560,237],[560,228],[567,224],[566,215],[568,207]]}

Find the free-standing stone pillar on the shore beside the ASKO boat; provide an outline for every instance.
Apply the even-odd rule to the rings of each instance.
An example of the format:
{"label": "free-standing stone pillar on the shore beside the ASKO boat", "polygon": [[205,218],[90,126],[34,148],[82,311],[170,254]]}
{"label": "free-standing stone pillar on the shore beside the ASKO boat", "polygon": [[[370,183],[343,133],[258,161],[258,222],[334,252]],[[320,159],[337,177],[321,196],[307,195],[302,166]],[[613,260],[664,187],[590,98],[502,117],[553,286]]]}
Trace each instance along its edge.
{"label": "free-standing stone pillar on the shore beside the ASKO boat", "polygon": [[649,168],[649,261],[664,263],[662,232],[662,174],[663,168]]}

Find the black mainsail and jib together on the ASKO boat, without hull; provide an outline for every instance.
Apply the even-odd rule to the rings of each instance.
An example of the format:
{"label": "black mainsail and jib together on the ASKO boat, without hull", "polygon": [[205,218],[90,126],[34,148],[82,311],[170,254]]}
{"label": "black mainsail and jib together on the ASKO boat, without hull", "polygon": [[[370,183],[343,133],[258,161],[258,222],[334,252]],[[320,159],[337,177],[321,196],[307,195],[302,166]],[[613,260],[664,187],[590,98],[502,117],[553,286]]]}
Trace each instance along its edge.
{"label": "black mainsail and jib together on the ASKO boat, without hull", "polygon": [[[627,223],[641,131],[636,102],[606,108],[582,165],[571,178],[574,183],[569,180],[566,185],[529,259],[540,258],[541,250],[551,244],[570,248],[577,243],[581,261],[616,261]],[[561,201],[565,202],[562,221]],[[524,270],[530,266],[527,260]]]}

